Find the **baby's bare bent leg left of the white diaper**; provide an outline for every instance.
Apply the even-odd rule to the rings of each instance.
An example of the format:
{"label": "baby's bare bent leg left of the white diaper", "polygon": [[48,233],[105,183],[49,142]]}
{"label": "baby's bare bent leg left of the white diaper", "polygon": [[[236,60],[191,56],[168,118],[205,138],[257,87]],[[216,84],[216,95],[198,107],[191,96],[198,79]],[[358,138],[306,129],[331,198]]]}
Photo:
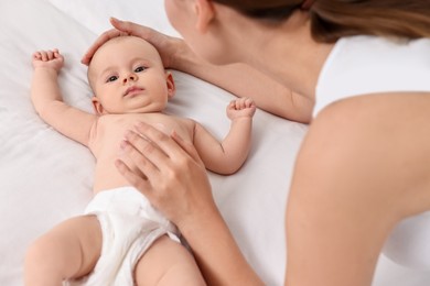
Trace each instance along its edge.
{"label": "baby's bare bent leg left of the white diaper", "polygon": [[101,251],[101,231],[95,216],[68,219],[39,238],[25,256],[26,286],[58,286],[88,274]]}

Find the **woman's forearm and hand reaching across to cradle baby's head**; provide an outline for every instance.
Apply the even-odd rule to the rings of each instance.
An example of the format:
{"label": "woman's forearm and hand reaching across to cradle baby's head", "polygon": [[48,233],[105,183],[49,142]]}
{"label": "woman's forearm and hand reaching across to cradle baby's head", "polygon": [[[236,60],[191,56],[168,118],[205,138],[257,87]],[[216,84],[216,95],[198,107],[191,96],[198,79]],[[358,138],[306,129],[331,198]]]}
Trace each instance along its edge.
{"label": "woman's forearm and hand reaching across to cradle baby's head", "polygon": [[313,101],[248,65],[213,65],[196,56],[181,38],[161,34],[132,22],[117,19],[110,19],[110,22],[116,29],[105,32],[96,40],[84,55],[82,61],[84,64],[89,64],[97,48],[109,38],[125,34],[139,36],[157,47],[166,68],[191,74],[237,97],[252,98],[258,108],[276,116],[303,123],[311,121]]}

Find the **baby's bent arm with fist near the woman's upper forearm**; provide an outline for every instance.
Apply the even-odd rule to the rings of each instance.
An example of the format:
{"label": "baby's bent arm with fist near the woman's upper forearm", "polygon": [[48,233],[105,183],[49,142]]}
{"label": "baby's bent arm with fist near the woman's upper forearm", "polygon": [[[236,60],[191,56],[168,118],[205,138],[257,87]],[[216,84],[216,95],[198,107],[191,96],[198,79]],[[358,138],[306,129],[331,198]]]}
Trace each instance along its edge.
{"label": "baby's bent arm with fist near the woman's upper forearm", "polygon": [[233,100],[227,106],[230,130],[222,142],[196,123],[194,145],[207,169],[228,175],[240,168],[249,153],[255,112],[252,99]]}

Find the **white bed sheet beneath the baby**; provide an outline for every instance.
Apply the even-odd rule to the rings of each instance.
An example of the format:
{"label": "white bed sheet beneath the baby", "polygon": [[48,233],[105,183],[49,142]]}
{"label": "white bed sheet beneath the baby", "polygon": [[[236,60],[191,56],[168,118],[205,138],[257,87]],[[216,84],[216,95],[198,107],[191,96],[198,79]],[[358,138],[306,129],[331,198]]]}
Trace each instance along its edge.
{"label": "white bed sheet beneath the baby", "polygon": [[[60,48],[66,58],[60,77],[65,101],[92,111],[86,67],[79,61],[97,35],[110,28],[110,15],[178,35],[162,0],[0,2],[0,285],[22,285],[29,243],[60,221],[80,215],[92,198],[92,154],[43,123],[32,107],[31,54]],[[178,94],[168,112],[193,118],[223,136],[229,125],[224,110],[233,95],[180,72],[173,70],[173,76]],[[245,166],[233,176],[209,174],[224,218],[267,285],[282,285],[284,207],[305,132],[304,124],[258,110]],[[430,285],[429,217],[423,213],[396,229],[385,248],[390,258],[380,255],[375,286]],[[411,267],[396,263],[405,261]]]}

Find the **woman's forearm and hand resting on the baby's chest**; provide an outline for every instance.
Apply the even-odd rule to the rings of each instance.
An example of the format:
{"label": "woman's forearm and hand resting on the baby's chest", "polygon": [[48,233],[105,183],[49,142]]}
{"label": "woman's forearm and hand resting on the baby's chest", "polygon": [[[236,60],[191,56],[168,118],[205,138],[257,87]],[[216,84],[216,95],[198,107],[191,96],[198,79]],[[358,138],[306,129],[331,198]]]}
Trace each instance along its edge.
{"label": "woman's forearm and hand resting on the baby's chest", "polygon": [[[205,167],[194,146],[175,133],[169,138],[144,123],[136,127],[136,132],[126,134],[127,141],[121,145],[125,157],[116,165],[178,226],[208,285],[262,285],[215,206]],[[139,167],[139,174],[123,163],[130,161]]]}

